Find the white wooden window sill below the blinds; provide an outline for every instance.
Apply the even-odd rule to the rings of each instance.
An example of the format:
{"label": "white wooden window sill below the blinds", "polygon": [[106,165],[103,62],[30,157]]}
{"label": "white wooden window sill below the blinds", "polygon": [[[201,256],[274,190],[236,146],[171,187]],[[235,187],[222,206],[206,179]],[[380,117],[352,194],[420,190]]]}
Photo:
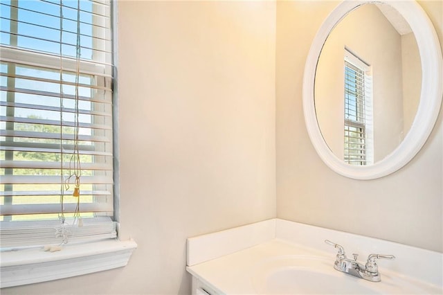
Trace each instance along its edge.
{"label": "white wooden window sill below the blinds", "polygon": [[124,267],[136,247],[133,240],[102,240],[68,244],[56,252],[42,248],[1,252],[0,287],[41,283]]}

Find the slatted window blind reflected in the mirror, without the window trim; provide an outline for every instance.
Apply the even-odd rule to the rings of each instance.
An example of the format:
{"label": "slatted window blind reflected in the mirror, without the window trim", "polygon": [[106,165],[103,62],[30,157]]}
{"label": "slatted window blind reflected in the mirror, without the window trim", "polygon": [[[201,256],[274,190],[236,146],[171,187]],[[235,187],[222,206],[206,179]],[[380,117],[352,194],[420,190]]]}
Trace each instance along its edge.
{"label": "slatted window blind reflected in the mirror, without the window trim", "polygon": [[345,150],[346,163],[366,165],[365,73],[345,61]]}

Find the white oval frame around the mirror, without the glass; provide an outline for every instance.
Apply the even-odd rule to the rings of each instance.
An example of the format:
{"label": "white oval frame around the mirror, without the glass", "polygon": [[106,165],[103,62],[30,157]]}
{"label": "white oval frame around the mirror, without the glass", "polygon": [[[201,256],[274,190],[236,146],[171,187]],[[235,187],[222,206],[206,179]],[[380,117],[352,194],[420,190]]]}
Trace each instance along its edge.
{"label": "white oval frame around the mirror, without the glass", "polygon": [[[314,83],[318,57],[336,24],[365,3],[386,3],[408,21],[415,34],[422,62],[422,91],[417,114],[404,141],[388,156],[371,166],[351,166],[338,159],[323,138],[316,118]],[[352,179],[377,179],[406,165],[423,147],[437,120],[443,96],[442,49],[431,20],[415,0],[343,1],[322,24],[307,56],[303,80],[303,111],[311,142],[320,158],[335,172]]]}

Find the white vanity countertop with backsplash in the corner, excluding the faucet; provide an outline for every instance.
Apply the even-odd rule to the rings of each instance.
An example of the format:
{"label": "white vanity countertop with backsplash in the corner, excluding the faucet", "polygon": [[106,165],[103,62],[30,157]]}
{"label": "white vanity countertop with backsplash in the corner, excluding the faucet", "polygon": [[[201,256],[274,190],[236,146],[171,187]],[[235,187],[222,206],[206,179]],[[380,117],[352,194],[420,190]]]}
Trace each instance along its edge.
{"label": "white vanity countertop with backsplash in the corner, excluding the faucet", "polygon": [[[272,222],[276,225],[276,236],[269,238],[269,225]],[[300,268],[299,265],[296,265],[300,261],[304,264],[305,269],[314,271],[311,274],[316,276],[317,270],[310,265],[311,262],[314,262],[313,265],[320,267],[318,274],[326,274],[329,280],[329,285],[323,284],[325,285],[324,292],[321,288],[322,291],[318,291],[319,286],[322,285],[322,282],[318,282],[318,284],[314,283],[313,290],[308,289],[302,293],[335,292],[340,294],[338,293],[340,287],[333,285],[350,284],[359,289],[359,292],[354,292],[352,289],[354,287],[348,288],[352,290],[352,294],[443,294],[440,286],[442,253],[411,248],[388,241],[377,241],[349,233],[337,233],[284,220],[270,220],[262,223],[266,229],[264,238],[257,238],[257,224],[260,224],[257,223],[253,224],[254,231],[251,234],[248,234],[248,225],[188,239],[188,267],[186,269],[217,294],[278,294],[278,291],[263,291],[266,280],[271,276],[275,278],[275,274],[280,271],[278,269],[293,269],[294,266]],[[231,231],[233,236],[230,236]],[[361,256],[358,260],[363,264],[368,253],[362,253],[362,248],[367,248],[370,252],[373,252],[374,249],[384,249],[389,253],[383,252],[382,254],[393,254],[397,258],[395,260],[377,260],[381,274],[381,282],[379,283],[355,278],[334,269],[336,249],[319,239],[318,233],[325,239],[331,238],[334,242],[343,244],[347,256],[350,256],[350,253],[360,253]],[[220,242],[220,237],[226,240]],[[210,240],[217,241],[217,243],[211,244]],[[301,242],[294,242],[294,240]],[[224,253],[223,249],[226,249],[226,244],[228,244],[229,251]],[[234,251],[235,244],[241,246],[237,251]],[[374,253],[378,253],[378,251],[374,251]],[[192,263],[189,263],[190,261]],[[285,275],[287,276],[287,274]],[[411,274],[417,274],[417,276],[411,276]],[[319,277],[321,278],[321,276]],[[426,280],[426,278],[428,279]],[[289,276],[289,280],[292,280],[291,276]],[[307,280],[311,280],[311,278],[307,278]],[[282,283],[282,280],[278,279],[278,281]]]}

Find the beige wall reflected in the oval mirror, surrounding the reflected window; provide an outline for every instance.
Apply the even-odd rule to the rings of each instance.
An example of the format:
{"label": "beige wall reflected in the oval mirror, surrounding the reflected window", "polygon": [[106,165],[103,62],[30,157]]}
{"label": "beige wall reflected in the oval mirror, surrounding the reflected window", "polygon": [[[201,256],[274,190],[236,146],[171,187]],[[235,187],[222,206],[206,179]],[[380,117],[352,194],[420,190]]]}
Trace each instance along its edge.
{"label": "beige wall reflected in the oval mirror, surrounding the reflected window", "polygon": [[316,70],[316,114],[325,141],[340,159],[344,157],[345,48],[372,69],[373,111],[366,122],[373,124],[373,159],[377,162],[403,140],[401,35],[372,4],[353,10],[327,37]]}

